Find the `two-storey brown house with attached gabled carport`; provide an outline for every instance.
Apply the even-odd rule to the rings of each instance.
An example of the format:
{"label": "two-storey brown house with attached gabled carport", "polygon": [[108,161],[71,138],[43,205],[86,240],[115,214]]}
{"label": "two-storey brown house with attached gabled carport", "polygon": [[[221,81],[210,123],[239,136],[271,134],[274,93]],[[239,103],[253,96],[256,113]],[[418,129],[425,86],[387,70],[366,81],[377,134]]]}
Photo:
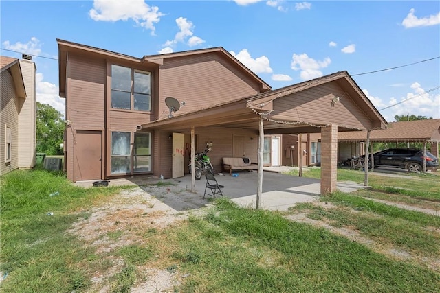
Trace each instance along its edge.
{"label": "two-storey brown house with attached gabled carport", "polygon": [[[195,152],[212,148],[220,172],[225,156],[256,163],[262,132],[321,133],[322,166],[329,167],[322,188],[333,191],[338,131],[386,126],[346,71],[272,91],[222,47],[135,58],[57,42],[65,169],[72,181],[184,176],[192,139]],[[178,100],[177,112],[167,97]]]}

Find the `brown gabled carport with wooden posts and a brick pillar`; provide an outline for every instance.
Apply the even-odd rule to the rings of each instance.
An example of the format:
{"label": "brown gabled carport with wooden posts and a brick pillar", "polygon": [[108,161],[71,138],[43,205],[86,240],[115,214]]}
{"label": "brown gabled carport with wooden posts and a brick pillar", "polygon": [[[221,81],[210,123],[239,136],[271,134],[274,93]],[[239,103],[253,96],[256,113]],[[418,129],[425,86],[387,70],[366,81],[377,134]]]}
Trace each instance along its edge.
{"label": "brown gabled carport with wooden posts and a brick pillar", "polygon": [[[247,129],[259,135],[259,182],[256,192],[258,208],[263,189],[265,134],[320,132],[320,192],[328,194],[336,191],[338,132],[383,129],[386,121],[349,73],[341,71],[252,97],[215,104],[181,115],[177,113],[174,117],[143,124],[142,131],[190,132],[190,160],[194,161],[195,131],[206,126]],[[192,188],[195,188],[194,175]]]}

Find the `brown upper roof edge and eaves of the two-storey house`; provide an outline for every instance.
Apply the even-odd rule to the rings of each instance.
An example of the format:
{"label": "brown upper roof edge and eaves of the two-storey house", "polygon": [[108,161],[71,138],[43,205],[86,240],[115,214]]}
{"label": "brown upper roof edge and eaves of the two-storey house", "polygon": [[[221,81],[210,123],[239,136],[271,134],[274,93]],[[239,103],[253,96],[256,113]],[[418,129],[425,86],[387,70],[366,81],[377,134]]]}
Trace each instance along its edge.
{"label": "brown upper roof edge and eaves of the two-storey house", "polygon": [[222,56],[225,56],[230,60],[236,67],[241,69],[241,71],[245,72],[246,74],[250,75],[254,80],[259,82],[261,84],[261,91],[268,91],[271,89],[271,86],[267,84],[264,80],[259,78],[258,75],[256,75],[254,72],[252,72],[248,67],[245,67],[243,63],[241,63],[239,60],[234,58],[228,51],[223,49],[223,47],[213,47],[208,49],[197,49],[197,50],[191,50],[191,51],[181,51],[181,52],[175,52],[175,53],[168,53],[168,54],[156,54],[156,55],[146,55],[142,58],[137,58],[133,56],[129,56],[126,54],[120,54],[114,51],[109,51],[105,49],[100,49],[98,47],[92,47],[88,45],[82,45],[74,42],[69,42],[68,40],[61,40],[59,38],[56,39],[56,42],[58,43],[58,74],[59,74],[59,89],[60,89],[60,97],[65,97],[65,74],[66,74],[66,67],[67,67],[67,51],[76,51],[76,52],[82,52],[91,55],[104,55],[111,58],[118,58],[123,60],[128,60],[135,63],[150,63],[153,65],[163,65],[164,60],[168,58],[178,58],[178,57],[185,57],[185,56],[195,56],[198,54],[221,54]]}

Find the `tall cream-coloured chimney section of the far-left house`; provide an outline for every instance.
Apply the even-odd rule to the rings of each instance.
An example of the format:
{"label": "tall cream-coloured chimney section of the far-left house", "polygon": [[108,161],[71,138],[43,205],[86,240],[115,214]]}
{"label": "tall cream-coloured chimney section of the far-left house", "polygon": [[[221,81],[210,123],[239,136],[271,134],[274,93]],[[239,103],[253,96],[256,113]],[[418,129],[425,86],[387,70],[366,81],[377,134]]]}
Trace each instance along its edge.
{"label": "tall cream-coloured chimney section of the far-left house", "polygon": [[29,60],[20,60],[20,66],[26,99],[19,100],[19,168],[32,168],[36,153],[36,69],[34,62]]}

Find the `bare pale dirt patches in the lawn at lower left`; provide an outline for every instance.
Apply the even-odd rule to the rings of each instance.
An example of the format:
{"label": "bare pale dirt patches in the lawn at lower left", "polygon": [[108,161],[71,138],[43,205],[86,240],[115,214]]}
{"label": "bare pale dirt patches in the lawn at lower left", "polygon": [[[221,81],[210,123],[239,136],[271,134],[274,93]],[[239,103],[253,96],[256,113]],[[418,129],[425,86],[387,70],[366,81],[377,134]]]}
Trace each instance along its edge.
{"label": "bare pale dirt patches in the lawn at lower left", "polygon": [[[178,188],[169,185],[126,189],[100,207],[94,207],[87,218],[72,226],[69,233],[94,246],[102,263],[111,263],[105,272],[92,272],[90,292],[111,291],[109,279],[124,266],[123,259],[113,253],[116,249],[130,244],[146,245],[146,231],[179,224],[190,214],[201,215],[205,210],[202,208],[209,206],[199,195]],[[176,209],[164,202],[174,202]],[[186,277],[154,266],[140,270],[145,281],[135,284],[131,292],[173,292],[179,280]]]}

